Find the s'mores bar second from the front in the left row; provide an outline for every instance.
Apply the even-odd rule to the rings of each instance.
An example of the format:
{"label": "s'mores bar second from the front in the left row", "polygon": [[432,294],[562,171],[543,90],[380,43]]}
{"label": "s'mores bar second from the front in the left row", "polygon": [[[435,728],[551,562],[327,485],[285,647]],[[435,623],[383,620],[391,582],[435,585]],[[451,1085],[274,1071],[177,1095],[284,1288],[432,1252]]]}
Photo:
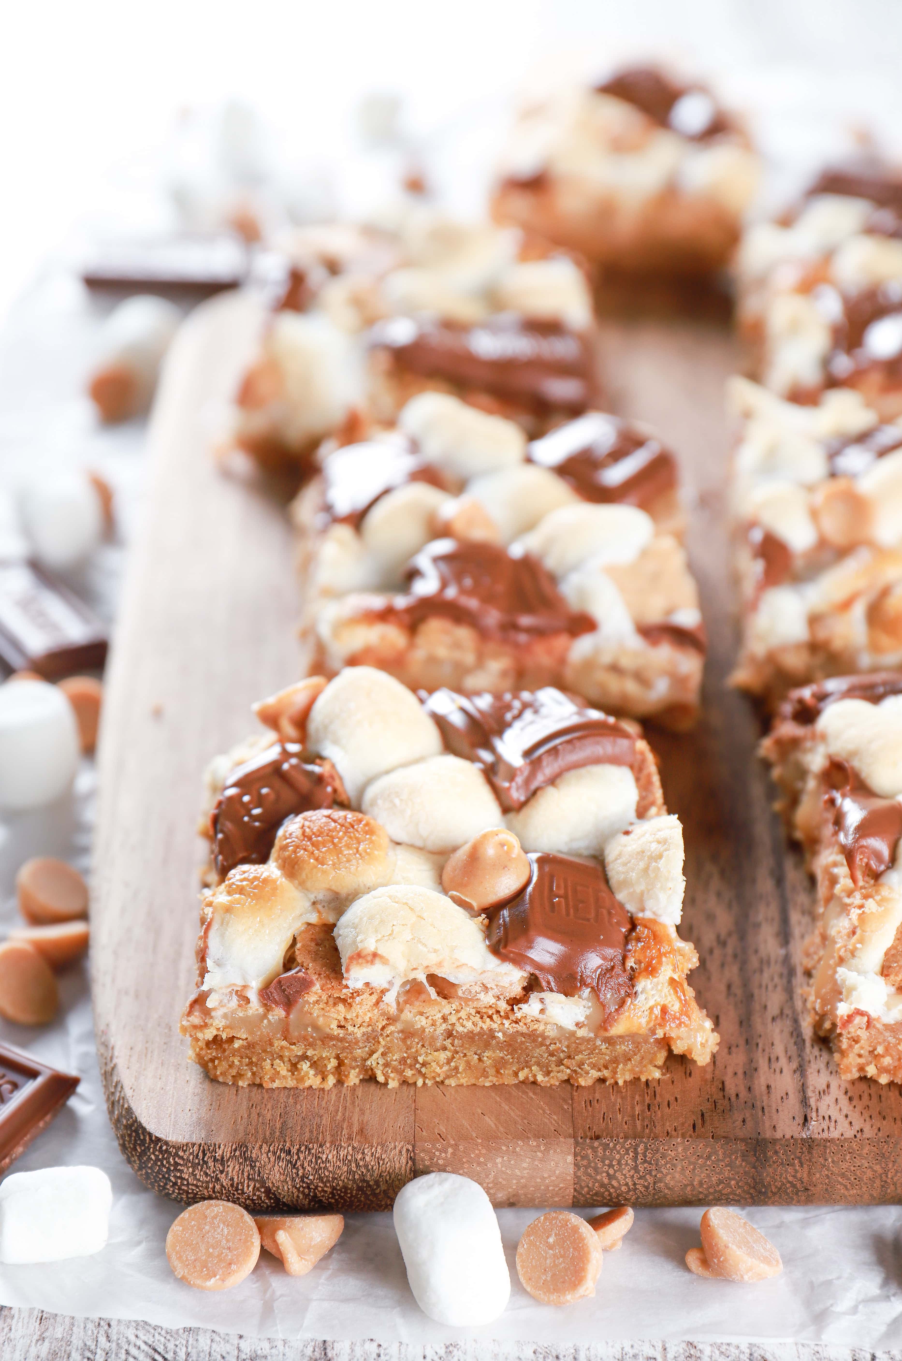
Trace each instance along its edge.
{"label": "s'mores bar second from the front in the left row", "polygon": [[673,478],[648,430],[604,412],[527,444],[420,393],[399,430],[327,456],[297,502],[313,667],[377,666],[414,690],[562,685],[691,725],[706,641],[667,532]]}

